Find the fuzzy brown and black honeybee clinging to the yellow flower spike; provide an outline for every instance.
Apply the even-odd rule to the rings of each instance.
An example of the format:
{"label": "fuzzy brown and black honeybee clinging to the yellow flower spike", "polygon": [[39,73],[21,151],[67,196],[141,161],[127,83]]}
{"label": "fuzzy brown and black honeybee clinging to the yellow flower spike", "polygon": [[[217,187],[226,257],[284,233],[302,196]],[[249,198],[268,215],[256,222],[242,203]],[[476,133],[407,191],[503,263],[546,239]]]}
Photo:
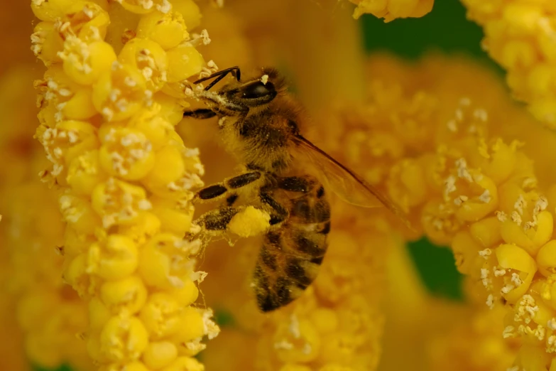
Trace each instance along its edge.
{"label": "fuzzy brown and black honeybee clinging to the yellow flower spike", "polygon": [[[230,74],[231,82],[211,90]],[[239,68],[231,67],[195,84],[212,79],[197,94],[206,108],[184,117],[218,117],[225,149],[239,157],[243,171],[196,193],[195,200],[223,202],[195,223],[201,233],[218,235],[248,205],[270,215],[252,286],[258,308],[273,311],[298,298],[317,276],[330,232],[328,190],[354,205],[384,205],[401,214],[391,200],[302,136],[299,127],[307,119],[276,69],[263,68],[258,77],[241,80]],[[238,205],[240,195],[248,195],[245,205]]]}

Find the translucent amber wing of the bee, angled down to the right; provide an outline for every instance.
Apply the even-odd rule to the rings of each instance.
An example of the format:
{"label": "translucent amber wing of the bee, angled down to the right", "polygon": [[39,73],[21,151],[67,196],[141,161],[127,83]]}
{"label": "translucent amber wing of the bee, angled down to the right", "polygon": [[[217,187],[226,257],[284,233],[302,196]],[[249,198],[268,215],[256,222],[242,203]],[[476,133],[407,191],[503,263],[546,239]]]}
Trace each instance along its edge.
{"label": "translucent amber wing of the bee, angled down to the right", "polygon": [[386,207],[406,224],[408,223],[405,213],[386,195],[364,181],[349,168],[334,160],[332,156],[329,156],[315,144],[300,135],[295,136],[295,144],[298,146],[298,154],[307,158],[310,163],[316,166],[325,186],[336,193],[339,198],[347,203],[364,208]]}

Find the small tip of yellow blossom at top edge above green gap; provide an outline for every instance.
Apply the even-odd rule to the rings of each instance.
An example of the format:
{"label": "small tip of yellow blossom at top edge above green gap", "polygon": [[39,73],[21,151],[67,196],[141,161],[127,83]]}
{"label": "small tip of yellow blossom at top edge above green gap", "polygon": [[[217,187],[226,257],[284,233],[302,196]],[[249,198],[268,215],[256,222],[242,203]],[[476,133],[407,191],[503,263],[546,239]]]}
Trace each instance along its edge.
{"label": "small tip of yellow blossom at top edge above green gap", "polygon": [[432,10],[435,0],[349,0],[357,4],[354,18],[363,14],[372,14],[377,18],[384,18],[385,22],[396,18],[420,18]]}

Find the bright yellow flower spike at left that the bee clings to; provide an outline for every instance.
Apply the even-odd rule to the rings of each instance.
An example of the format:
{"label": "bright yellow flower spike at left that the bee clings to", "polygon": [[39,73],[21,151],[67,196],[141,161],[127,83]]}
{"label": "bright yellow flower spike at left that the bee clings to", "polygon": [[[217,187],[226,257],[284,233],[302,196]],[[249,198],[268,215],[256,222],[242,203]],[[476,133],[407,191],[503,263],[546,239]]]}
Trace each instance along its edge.
{"label": "bright yellow flower spike at left that the bee clings to", "polygon": [[[175,132],[206,74],[192,0],[33,0],[36,137],[67,223],[62,277],[87,302],[83,338],[102,370],[202,370],[219,328],[195,306],[190,230],[203,166]],[[215,68],[214,63],[207,64]]]}

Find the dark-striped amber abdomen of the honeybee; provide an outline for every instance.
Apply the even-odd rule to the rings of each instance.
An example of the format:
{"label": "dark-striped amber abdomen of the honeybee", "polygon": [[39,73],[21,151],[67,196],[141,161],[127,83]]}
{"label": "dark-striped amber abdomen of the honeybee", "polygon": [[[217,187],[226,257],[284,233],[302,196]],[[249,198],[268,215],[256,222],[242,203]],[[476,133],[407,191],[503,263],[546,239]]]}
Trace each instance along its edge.
{"label": "dark-striped amber abdomen of the honeybee", "polygon": [[261,311],[273,311],[297,299],[316,278],[327,249],[330,208],[317,187],[290,200],[289,217],[268,232],[258,256],[254,286]]}

